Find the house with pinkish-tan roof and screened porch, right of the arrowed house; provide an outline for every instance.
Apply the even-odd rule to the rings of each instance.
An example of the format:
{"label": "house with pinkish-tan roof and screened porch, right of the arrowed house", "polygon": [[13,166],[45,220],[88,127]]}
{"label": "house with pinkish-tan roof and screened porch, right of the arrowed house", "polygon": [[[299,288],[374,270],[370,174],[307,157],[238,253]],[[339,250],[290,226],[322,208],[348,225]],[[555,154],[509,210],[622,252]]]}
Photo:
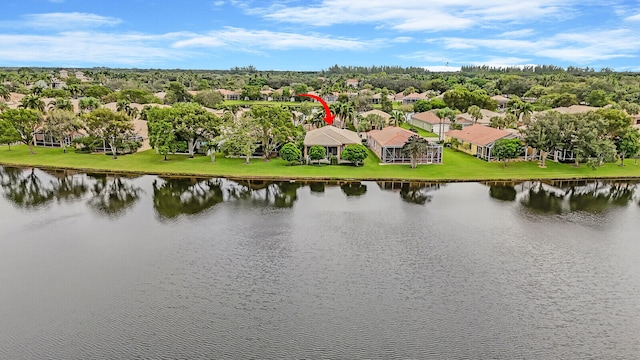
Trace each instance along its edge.
{"label": "house with pinkish-tan roof and screened porch, right of the arrowed house", "polygon": [[[402,147],[414,135],[414,132],[395,126],[371,130],[367,133],[367,146],[384,164],[406,164],[411,162],[411,158],[402,153]],[[441,163],[442,146],[430,142],[425,154],[418,159],[418,164]]]}

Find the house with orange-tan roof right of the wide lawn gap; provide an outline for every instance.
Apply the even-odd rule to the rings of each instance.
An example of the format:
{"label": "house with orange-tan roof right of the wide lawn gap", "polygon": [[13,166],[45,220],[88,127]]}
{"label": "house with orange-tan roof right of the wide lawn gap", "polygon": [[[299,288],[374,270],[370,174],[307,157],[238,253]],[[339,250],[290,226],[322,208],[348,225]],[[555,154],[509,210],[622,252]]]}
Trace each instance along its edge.
{"label": "house with orange-tan roof right of the wide lawn gap", "polygon": [[445,135],[446,141],[457,139],[460,142],[457,146],[458,150],[487,161],[495,160],[492,150],[496,141],[517,137],[517,134],[511,131],[494,129],[478,124],[462,130],[450,130]]}

